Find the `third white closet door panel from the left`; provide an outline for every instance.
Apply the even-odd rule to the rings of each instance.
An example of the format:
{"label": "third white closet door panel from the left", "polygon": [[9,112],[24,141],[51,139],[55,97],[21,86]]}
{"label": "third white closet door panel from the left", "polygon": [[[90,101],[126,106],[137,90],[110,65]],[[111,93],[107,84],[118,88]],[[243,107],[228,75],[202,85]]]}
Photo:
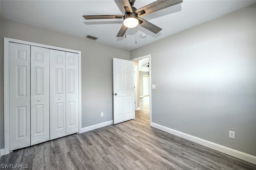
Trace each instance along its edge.
{"label": "third white closet door panel from the left", "polygon": [[50,140],[66,135],[65,52],[50,50]]}

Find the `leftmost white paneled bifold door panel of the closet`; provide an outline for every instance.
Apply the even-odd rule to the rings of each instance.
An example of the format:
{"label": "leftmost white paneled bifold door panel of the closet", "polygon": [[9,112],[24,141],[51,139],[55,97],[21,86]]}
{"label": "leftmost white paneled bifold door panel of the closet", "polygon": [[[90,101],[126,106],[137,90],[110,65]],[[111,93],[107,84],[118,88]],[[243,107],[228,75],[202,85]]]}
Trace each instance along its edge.
{"label": "leftmost white paneled bifold door panel of the closet", "polygon": [[30,45],[9,43],[10,150],[30,146]]}

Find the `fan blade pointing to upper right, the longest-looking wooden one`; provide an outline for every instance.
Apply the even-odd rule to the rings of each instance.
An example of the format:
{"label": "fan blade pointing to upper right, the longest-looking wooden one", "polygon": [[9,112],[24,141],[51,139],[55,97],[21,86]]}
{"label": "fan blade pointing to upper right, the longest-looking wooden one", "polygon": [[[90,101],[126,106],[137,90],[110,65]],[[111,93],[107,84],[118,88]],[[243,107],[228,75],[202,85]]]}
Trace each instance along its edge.
{"label": "fan blade pointing to upper right, the longest-looking wooden one", "polygon": [[153,2],[151,4],[148,4],[147,6],[144,6],[136,10],[136,12],[140,17],[142,17],[152,12],[156,12],[164,8],[168,8],[170,6],[180,4],[181,2],[183,2],[183,0],[158,0],[156,2]]}

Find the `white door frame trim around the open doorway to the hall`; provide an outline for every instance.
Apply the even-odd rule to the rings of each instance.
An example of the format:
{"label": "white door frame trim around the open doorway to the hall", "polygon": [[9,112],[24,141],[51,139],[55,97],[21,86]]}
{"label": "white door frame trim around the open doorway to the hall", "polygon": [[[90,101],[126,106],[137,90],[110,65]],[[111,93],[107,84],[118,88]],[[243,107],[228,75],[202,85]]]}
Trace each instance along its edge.
{"label": "white door frame trim around the open doorway to the hall", "polygon": [[[138,57],[138,58],[135,58],[135,59],[130,59],[130,61],[139,61],[139,60],[142,60],[142,59],[146,59],[148,58],[148,61],[149,61],[149,75],[148,75],[148,78],[149,78],[149,121],[150,121],[150,126],[152,124],[152,105],[151,105],[151,99],[152,99],[152,93],[151,93],[151,55],[144,55],[142,57]],[[139,70],[139,68],[137,68]],[[137,71],[138,71],[137,70]],[[135,98],[135,102],[138,103],[138,99]]]}

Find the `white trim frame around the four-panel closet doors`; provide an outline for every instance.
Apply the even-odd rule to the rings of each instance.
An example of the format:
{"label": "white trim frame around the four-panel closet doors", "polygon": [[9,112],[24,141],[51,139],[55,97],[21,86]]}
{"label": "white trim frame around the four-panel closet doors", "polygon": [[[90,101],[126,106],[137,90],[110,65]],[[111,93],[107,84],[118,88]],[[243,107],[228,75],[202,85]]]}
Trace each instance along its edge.
{"label": "white trim frame around the four-panel closet doors", "polygon": [[18,39],[11,39],[4,37],[4,154],[10,153],[10,128],[9,128],[9,43],[20,43],[26,45],[32,45],[37,47],[43,47],[48,49],[55,49],[60,51],[66,51],[70,53],[78,53],[78,73],[79,73],[79,133],[82,133],[82,88],[81,88],[81,51],[72,49],[65,49],[61,47],[54,47],[51,45],[44,45],[38,43],[32,43],[29,41],[22,41]]}

